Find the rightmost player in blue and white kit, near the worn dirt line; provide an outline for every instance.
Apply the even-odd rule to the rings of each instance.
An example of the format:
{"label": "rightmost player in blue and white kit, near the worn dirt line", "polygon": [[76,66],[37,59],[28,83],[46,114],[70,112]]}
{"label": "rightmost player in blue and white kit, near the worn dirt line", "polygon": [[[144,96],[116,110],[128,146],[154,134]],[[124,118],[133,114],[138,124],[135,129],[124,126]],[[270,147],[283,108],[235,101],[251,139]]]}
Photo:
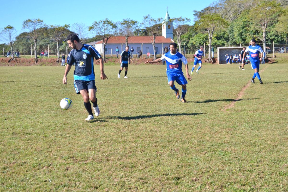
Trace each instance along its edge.
{"label": "rightmost player in blue and white kit, near the worn dirt line", "polygon": [[[259,45],[256,45],[255,39],[251,39],[250,46],[245,50],[245,52],[243,54],[242,62],[243,62],[247,52],[249,52],[249,60],[251,62],[251,68],[254,69],[254,71],[255,71],[255,73],[251,79],[251,82],[255,83],[254,79],[255,79],[255,77],[257,77],[260,81],[260,84],[263,84],[261,77],[259,75],[259,65],[260,65],[260,61],[262,60],[262,57],[263,57],[263,50]],[[259,59],[259,52],[261,53],[260,59]]]}

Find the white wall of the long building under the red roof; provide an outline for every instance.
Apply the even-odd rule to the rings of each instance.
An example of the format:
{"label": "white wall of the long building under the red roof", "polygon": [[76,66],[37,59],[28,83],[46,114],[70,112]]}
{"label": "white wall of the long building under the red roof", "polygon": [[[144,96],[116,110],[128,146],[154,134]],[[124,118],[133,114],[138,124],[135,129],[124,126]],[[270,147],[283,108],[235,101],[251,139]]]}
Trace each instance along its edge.
{"label": "white wall of the long building under the red roof", "polygon": [[[162,48],[162,44],[163,44],[163,48]],[[162,54],[164,47],[165,46],[169,47],[169,44],[170,43],[156,43],[155,47],[158,47],[158,50],[156,48],[157,54]],[[111,55],[111,49],[112,49],[112,53],[115,54],[116,46],[118,46],[120,53],[125,50],[125,43],[123,43],[123,44],[122,43],[121,44],[107,44],[105,46],[105,50],[106,50],[105,55]],[[142,50],[142,48],[141,48],[142,43],[129,43],[129,41],[128,41],[128,46],[129,46],[129,51],[130,51],[131,47],[134,48],[134,54],[137,54],[137,51],[138,51],[137,48]],[[95,49],[101,55],[103,54],[102,44],[95,44]],[[148,51],[150,54],[154,54],[152,43],[143,43],[142,54],[146,55]]]}

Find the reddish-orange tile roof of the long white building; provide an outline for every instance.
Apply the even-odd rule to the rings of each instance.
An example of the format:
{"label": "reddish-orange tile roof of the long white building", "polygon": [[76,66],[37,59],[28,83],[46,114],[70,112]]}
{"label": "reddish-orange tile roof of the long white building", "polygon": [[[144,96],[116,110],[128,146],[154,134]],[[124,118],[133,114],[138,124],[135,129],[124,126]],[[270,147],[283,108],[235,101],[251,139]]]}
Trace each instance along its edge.
{"label": "reddish-orange tile roof of the long white building", "polygon": [[[153,36],[151,36],[153,41]],[[128,37],[128,43],[151,43],[150,36],[132,36]],[[103,41],[99,41],[96,44],[100,44]],[[107,41],[107,44],[116,44],[116,43],[125,43],[125,36],[113,36],[110,37]],[[165,38],[164,36],[157,36],[155,39],[155,43],[171,43],[169,38]]]}

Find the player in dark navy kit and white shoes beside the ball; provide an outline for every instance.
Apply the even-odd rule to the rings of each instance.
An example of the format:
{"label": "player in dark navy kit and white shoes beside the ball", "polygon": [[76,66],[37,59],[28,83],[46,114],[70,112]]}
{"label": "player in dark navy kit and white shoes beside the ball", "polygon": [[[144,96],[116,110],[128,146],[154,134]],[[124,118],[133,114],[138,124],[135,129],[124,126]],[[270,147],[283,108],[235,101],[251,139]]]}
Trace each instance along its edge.
{"label": "player in dark navy kit and white shoes beside the ball", "polygon": [[74,87],[76,94],[81,94],[83,97],[84,106],[89,113],[85,120],[89,121],[94,119],[89,99],[93,103],[95,116],[98,117],[100,113],[96,98],[97,88],[95,86],[94,58],[99,60],[100,63],[100,78],[108,79],[103,69],[103,58],[91,45],[79,43],[79,38],[76,34],[68,35],[67,43],[73,50],[69,54],[63,83],[67,84],[67,74],[69,73],[72,64],[75,62]]}

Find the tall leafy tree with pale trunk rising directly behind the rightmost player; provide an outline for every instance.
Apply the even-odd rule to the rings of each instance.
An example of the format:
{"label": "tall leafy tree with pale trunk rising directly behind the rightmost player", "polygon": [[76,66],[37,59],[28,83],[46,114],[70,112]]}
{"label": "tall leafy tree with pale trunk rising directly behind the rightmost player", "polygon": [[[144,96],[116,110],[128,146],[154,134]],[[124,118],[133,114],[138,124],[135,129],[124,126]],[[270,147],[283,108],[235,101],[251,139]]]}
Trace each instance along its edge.
{"label": "tall leafy tree with pale trunk rising directly behind the rightmost player", "polygon": [[283,13],[283,7],[275,0],[262,0],[254,9],[250,10],[253,27],[262,31],[262,37],[259,39],[263,42],[263,51],[266,52],[266,33],[270,25],[278,22],[278,17]]}

